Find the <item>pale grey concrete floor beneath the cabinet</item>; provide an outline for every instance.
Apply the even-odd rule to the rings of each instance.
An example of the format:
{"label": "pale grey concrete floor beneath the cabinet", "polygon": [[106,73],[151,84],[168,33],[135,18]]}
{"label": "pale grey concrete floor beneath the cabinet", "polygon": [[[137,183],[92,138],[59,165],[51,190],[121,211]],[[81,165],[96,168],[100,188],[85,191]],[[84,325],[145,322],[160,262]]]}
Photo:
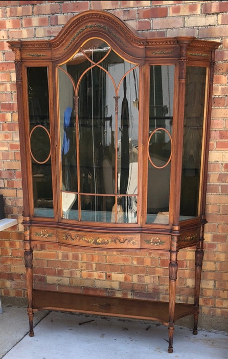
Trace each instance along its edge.
{"label": "pale grey concrete floor beneath the cabinet", "polygon": [[175,326],[173,353],[162,324],[54,311],[36,312],[28,335],[25,307],[3,306],[0,358],[4,359],[227,359],[227,333]]}

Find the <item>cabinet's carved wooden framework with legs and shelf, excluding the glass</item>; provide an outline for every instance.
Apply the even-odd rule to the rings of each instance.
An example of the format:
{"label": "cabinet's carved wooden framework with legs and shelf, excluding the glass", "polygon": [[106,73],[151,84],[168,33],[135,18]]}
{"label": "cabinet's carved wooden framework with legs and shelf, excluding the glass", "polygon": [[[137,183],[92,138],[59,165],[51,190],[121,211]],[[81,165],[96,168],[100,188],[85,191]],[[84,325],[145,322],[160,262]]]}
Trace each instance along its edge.
{"label": "cabinet's carved wooden framework with legs and shelf, excluding the glass", "polygon": [[[69,61],[88,39],[102,39],[120,58],[139,67],[139,169],[138,169],[138,220],[136,223],[103,223],[67,220],[61,212],[61,177],[59,104],[57,99],[57,68]],[[24,193],[25,265],[28,284],[28,314],[30,336],[33,332],[34,311],[50,309],[77,311],[111,316],[157,320],[168,327],[169,348],[173,351],[174,323],[181,317],[194,315],[193,333],[197,334],[199,314],[200,279],[203,260],[203,231],[206,224],[205,201],[209,130],[212,106],[214,53],[219,43],[201,41],[195,37],[144,38],[130,30],[120,19],[108,12],[86,11],[70,19],[60,33],[50,41],[10,41],[15,53],[18,121],[20,135],[22,189]],[[151,66],[175,68],[173,87],[173,129],[170,150],[170,194],[168,222],[148,223],[146,216],[148,166],[148,122]],[[205,103],[202,131],[202,153],[198,188],[197,215],[186,220],[180,218],[181,166],[183,166],[183,136],[186,98],[187,66],[206,69]],[[49,88],[48,133],[50,138],[51,175],[53,188],[53,216],[34,213],[36,197],[31,165],[31,128],[28,105],[28,68],[47,67]],[[39,81],[39,78],[37,78]],[[151,106],[152,107],[152,106]],[[117,109],[116,109],[117,111]],[[116,125],[117,126],[117,125]],[[42,126],[41,126],[42,128]],[[117,127],[116,127],[117,128]],[[156,128],[157,130],[158,128]],[[30,144],[30,145],[29,145]],[[47,149],[49,153],[49,149]],[[144,175],[145,174],[145,175]],[[36,184],[40,178],[36,177]],[[80,193],[78,196],[81,195]],[[33,199],[32,199],[33,198]],[[106,198],[104,196],[104,198]],[[116,196],[113,195],[115,201]],[[116,216],[117,216],[117,207]],[[116,217],[117,218],[117,217]],[[33,243],[59,243],[72,246],[75,251],[82,247],[101,250],[164,250],[170,253],[169,302],[154,302],[127,298],[99,297],[72,292],[51,292],[33,289]],[[178,251],[195,249],[195,301],[194,304],[176,303],[176,279]],[[105,304],[105,305],[104,305]]]}

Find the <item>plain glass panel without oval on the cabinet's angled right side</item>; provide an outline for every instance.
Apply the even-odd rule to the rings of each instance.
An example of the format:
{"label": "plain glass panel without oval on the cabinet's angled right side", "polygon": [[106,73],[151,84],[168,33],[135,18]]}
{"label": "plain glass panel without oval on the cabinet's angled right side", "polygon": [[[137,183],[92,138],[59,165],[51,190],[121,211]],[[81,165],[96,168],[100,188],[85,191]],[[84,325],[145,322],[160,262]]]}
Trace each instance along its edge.
{"label": "plain glass panel without oval on the cabinet's angled right side", "polygon": [[199,210],[206,73],[205,67],[186,69],[180,220],[196,217]]}

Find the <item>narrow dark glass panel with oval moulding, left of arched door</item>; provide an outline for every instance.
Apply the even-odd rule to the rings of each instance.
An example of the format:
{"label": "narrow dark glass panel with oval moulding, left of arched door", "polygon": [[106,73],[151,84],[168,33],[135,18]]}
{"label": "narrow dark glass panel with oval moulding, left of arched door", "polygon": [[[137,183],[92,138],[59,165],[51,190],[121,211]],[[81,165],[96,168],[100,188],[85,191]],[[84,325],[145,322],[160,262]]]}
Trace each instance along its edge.
{"label": "narrow dark glass panel with oval moulding, left of arched door", "polygon": [[34,215],[53,217],[48,68],[28,67]]}

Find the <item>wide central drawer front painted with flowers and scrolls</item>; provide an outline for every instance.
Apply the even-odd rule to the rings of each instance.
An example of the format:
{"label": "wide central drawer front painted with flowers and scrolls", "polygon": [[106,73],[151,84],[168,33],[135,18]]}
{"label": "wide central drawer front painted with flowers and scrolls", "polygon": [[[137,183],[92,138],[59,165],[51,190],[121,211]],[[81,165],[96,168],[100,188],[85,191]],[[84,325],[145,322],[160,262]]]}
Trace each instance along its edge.
{"label": "wide central drawer front painted with flowers and scrolls", "polygon": [[83,247],[129,249],[140,247],[140,236],[59,230],[58,242]]}

